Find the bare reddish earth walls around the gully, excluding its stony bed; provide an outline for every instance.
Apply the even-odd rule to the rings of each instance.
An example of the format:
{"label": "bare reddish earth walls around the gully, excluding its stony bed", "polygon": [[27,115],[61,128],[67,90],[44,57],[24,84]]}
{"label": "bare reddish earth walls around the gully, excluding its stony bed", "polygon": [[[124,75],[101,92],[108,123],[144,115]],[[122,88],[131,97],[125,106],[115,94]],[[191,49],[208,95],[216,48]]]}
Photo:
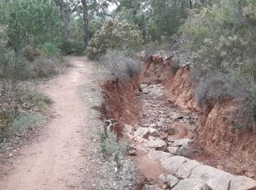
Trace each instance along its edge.
{"label": "bare reddish earth walls around the gully, excluding its stony bed", "polygon": [[[252,131],[235,129],[227,121],[236,110],[236,101],[225,100],[214,104],[208,102],[199,107],[193,96],[196,84],[189,78],[189,66],[180,66],[176,72],[171,61],[153,56],[144,65],[140,77],[132,80],[132,83],[115,81],[112,87],[110,83],[108,81],[102,85],[107,94],[105,98],[109,118],[115,118],[120,123],[138,123],[143,104],[139,104],[139,98],[135,96],[138,84],[161,84],[165,87],[165,102],[185,113],[196,113],[200,117],[193,142],[200,153],[191,155],[192,159],[236,175],[256,177],[256,135]],[[175,127],[179,131],[177,135],[186,137],[186,129],[182,126]],[[120,130],[121,128],[119,133]]]}

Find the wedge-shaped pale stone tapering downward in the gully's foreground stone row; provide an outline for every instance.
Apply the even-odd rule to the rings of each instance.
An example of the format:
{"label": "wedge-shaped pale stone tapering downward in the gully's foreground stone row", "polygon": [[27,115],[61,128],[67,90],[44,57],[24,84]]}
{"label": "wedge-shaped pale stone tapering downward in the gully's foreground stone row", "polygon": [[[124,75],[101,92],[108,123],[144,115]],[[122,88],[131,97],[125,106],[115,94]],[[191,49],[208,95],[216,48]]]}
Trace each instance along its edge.
{"label": "wedge-shaped pale stone tapering downward in the gully's foreground stone row", "polygon": [[186,161],[187,158],[183,156],[173,156],[160,159],[160,164],[167,172],[170,172],[171,175],[175,175],[178,167],[180,167],[181,164],[184,164]]}

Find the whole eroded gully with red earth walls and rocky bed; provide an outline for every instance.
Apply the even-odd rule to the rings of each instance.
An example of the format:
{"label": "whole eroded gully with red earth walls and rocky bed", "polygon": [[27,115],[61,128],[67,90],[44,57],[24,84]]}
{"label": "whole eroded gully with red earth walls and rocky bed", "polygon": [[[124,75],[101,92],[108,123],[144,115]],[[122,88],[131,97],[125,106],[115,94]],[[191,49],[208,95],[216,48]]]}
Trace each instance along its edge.
{"label": "whole eroded gully with red earth walls and rocky bed", "polygon": [[221,116],[232,113],[231,101],[197,106],[189,66],[176,70],[171,61],[153,56],[140,76],[109,80],[102,88],[107,118],[120,123],[117,132],[147,177],[144,188],[256,188],[255,136]]}

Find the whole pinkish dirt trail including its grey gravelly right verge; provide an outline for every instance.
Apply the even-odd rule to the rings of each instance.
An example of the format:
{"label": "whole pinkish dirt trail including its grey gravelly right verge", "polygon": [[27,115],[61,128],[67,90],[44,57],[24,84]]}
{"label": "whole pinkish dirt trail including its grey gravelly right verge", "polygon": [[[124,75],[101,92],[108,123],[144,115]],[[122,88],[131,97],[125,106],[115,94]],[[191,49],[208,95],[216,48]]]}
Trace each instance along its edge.
{"label": "whole pinkish dirt trail including its grey gravelly right verge", "polygon": [[[0,189],[118,189],[134,185],[125,171],[129,180],[120,174],[121,180],[116,182],[113,161],[101,159],[97,130],[103,123],[91,108],[101,104],[94,64],[85,58],[69,61],[73,66],[67,73],[41,86],[53,99],[53,121],[9,161],[13,167],[0,176]],[[123,164],[124,170],[126,166],[132,169],[129,161]]]}

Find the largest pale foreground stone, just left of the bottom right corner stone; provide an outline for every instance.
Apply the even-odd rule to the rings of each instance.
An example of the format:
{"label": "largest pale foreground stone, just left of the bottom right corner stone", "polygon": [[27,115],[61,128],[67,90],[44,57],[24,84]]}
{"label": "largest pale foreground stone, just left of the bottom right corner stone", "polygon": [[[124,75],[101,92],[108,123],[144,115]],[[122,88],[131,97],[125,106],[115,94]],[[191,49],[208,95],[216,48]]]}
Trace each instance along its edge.
{"label": "largest pale foreground stone, just left of the bottom right corner stone", "polygon": [[227,190],[230,186],[230,179],[233,177],[230,173],[217,170],[214,167],[202,165],[195,167],[189,179],[201,180],[208,184],[214,190]]}

